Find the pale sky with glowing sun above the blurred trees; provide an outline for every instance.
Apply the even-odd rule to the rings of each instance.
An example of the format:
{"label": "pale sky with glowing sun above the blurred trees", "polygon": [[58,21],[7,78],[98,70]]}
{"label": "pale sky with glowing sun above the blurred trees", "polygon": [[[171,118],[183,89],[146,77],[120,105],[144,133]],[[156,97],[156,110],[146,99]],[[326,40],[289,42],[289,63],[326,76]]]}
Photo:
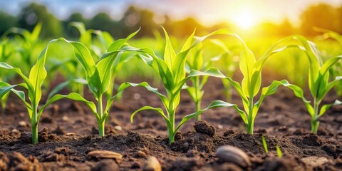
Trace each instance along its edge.
{"label": "pale sky with glowing sun above the blurred trees", "polygon": [[[222,21],[242,27],[261,21],[281,23],[289,19],[298,24],[300,14],[310,5],[326,3],[342,6],[342,0],[34,0],[44,4],[59,19],[67,19],[73,12],[81,12],[90,18],[105,11],[113,19],[120,19],[130,5],[149,9],[157,16],[167,14],[180,20],[195,17],[202,24],[213,25]],[[0,0],[0,10],[9,14],[19,14],[21,6],[33,0]],[[241,23],[244,21],[244,23]]]}

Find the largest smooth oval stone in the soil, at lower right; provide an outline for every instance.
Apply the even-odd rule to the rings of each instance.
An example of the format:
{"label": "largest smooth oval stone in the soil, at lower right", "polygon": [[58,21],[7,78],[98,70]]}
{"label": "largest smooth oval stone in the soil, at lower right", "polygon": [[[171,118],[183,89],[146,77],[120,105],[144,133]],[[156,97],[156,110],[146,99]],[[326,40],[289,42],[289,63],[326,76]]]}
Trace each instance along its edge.
{"label": "largest smooth oval stone in the soil, at lower right", "polygon": [[233,162],[243,168],[251,166],[248,155],[238,147],[223,145],[217,148],[215,154],[223,162]]}

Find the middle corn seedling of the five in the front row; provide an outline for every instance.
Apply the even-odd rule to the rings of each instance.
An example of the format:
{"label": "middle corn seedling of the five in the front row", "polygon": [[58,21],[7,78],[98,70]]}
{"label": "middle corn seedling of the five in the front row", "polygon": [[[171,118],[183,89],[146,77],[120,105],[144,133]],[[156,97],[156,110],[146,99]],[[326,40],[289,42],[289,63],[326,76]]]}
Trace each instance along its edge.
{"label": "middle corn seedling of the five in the front row", "polygon": [[155,70],[155,72],[159,74],[160,79],[162,81],[162,85],[164,86],[167,95],[163,95],[157,90],[157,88],[152,88],[146,82],[123,83],[120,86],[119,91],[130,86],[142,86],[159,96],[160,100],[162,101],[162,104],[165,107],[166,112],[162,110],[162,108],[144,106],[136,110],[134,113],[132,113],[130,120],[131,122],[133,122],[135,114],[139,113],[142,110],[154,110],[155,112],[159,113],[162,116],[162,118],[164,118],[167,124],[167,136],[169,139],[169,143],[171,144],[172,142],[175,142],[175,134],[181,128],[181,126],[187,122],[187,120],[190,120],[191,118],[200,115],[201,113],[203,113],[206,110],[209,110],[210,108],[229,106],[235,106],[235,108],[237,108],[236,105],[225,103],[222,100],[214,100],[207,106],[207,108],[197,110],[195,113],[186,115],[184,118],[182,118],[182,120],[177,126],[175,125],[175,114],[177,112],[177,107],[180,104],[180,91],[190,78],[194,78],[197,76],[214,76],[218,78],[224,78],[224,75],[220,73],[217,68],[209,68],[207,71],[203,72],[192,70],[190,71],[189,75],[186,76],[185,63],[187,61],[189,51],[192,48],[195,48],[195,46],[198,46],[199,43],[204,41],[204,39],[208,38],[209,36],[214,36],[217,34],[234,33],[227,29],[221,29],[218,31],[214,31],[213,33],[209,33],[207,36],[196,38],[196,40],[193,41],[195,34],[194,31],[194,33],[192,33],[192,35],[190,35],[189,38],[187,38],[187,41],[185,41],[185,44],[184,46],[182,46],[180,53],[175,53],[175,50],[172,48],[172,44],[170,43],[170,38],[167,35],[167,31],[165,31],[164,28],[163,30],[165,33],[166,44],[164,56],[162,56],[162,58],[156,56],[155,53],[149,48],[137,49],[137,51],[140,51],[138,57],[140,57],[142,61],[144,61],[148,66],[152,67]]}

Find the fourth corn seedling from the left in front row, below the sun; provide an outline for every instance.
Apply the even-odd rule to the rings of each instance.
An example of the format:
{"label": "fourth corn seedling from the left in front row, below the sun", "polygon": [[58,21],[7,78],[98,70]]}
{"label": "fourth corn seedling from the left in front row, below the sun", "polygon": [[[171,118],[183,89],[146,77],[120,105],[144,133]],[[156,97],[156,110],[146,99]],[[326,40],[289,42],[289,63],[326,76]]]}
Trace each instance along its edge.
{"label": "fourth corn seedling from the left in front row, below the sun", "polygon": [[[239,36],[237,36],[237,38],[239,38]],[[264,55],[261,56],[259,60],[257,60],[254,56],[254,53],[249,50],[244,41],[242,41],[241,38],[239,38],[239,40],[241,41],[243,47],[239,61],[239,68],[244,78],[242,79],[241,84],[237,81],[233,81],[232,78],[227,77],[226,79],[232,84],[234,89],[237,90],[238,95],[242,99],[244,110],[236,110],[242,117],[242,120],[244,120],[244,123],[247,125],[247,133],[253,134],[254,119],[257,117],[260,105],[266,95],[272,95],[276,93],[276,90],[279,86],[286,86],[289,88],[297,89],[296,86],[291,85],[286,80],[273,81],[270,86],[262,88],[259,100],[254,103],[254,97],[259,93],[261,89],[261,70],[267,58],[274,55],[274,53],[283,51],[286,48],[291,48],[292,46],[283,46],[276,49],[276,47],[279,46],[280,43],[287,40],[283,39],[274,44],[274,46],[271,46],[271,48],[269,48],[266,53],[264,53]]]}

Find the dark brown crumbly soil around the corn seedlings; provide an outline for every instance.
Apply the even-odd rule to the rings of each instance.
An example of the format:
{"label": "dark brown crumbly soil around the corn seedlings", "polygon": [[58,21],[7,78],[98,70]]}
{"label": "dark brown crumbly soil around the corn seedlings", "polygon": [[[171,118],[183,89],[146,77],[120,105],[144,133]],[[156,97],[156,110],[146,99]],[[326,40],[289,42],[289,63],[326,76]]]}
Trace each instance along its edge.
{"label": "dark brown crumbly soil around the corn seedlings", "polygon": [[[212,100],[224,100],[222,90],[218,79],[209,79],[202,108]],[[195,109],[187,92],[182,93],[176,122]],[[326,102],[333,98],[329,94]],[[232,99],[241,106],[237,94]],[[130,123],[134,110],[162,105],[157,95],[144,88],[128,88],[122,102],[114,103],[103,138],[98,137],[95,116],[86,105],[61,100],[43,113],[39,143],[32,145],[26,108],[14,96],[8,104],[6,113],[0,115],[0,170],[143,170],[150,155],[157,157],[162,170],[342,170],[342,107],[328,110],[320,118],[318,135],[311,134],[304,103],[286,88],[279,88],[261,105],[254,135],[246,134],[233,108],[216,108],[202,115],[205,122],[185,123],[172,145],[167,143],[167,126],[157,113],[146,110]],[[262,136],[269,148],[267,155]],[[239,147],[252,165],[242,168],[222,162],[215,155],[222,145]],[[281,147],[281,158],[276,145]],[[122,161],[88,155],[94,150],[117,152]]]}

